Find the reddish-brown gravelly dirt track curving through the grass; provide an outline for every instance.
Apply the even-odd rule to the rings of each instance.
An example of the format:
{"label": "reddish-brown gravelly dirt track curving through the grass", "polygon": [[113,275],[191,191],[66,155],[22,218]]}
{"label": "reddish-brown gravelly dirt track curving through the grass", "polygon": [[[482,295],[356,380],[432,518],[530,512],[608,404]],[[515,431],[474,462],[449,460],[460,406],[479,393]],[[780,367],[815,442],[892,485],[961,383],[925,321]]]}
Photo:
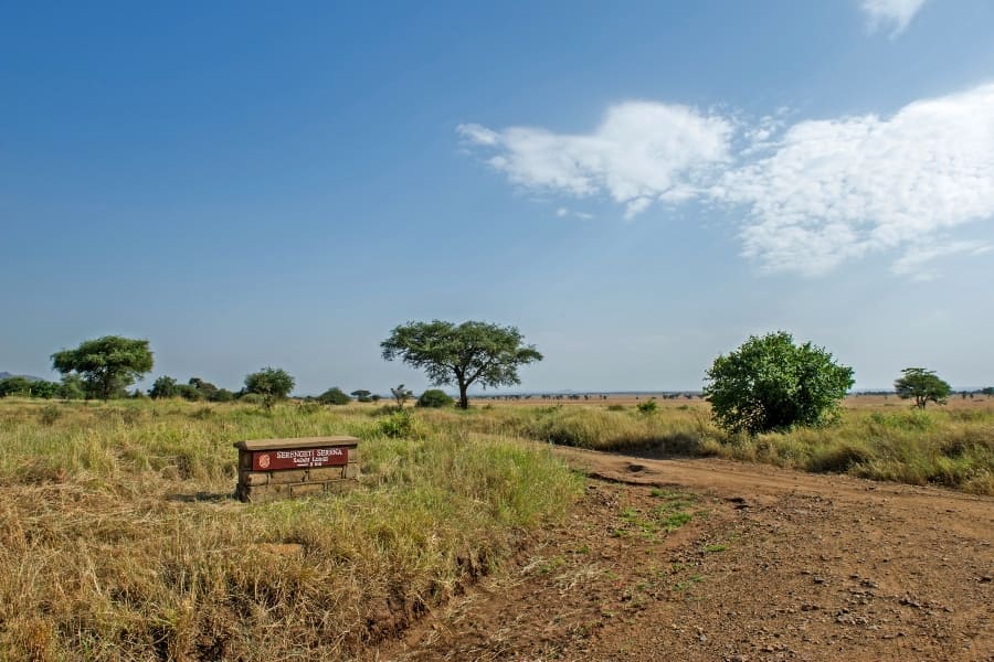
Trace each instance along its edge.
{"label": "reddish-brown gravelly dirt track curving through the grass", "polygon": [[369,660],[994,660],[994,499],[561,452],[569,521]]}

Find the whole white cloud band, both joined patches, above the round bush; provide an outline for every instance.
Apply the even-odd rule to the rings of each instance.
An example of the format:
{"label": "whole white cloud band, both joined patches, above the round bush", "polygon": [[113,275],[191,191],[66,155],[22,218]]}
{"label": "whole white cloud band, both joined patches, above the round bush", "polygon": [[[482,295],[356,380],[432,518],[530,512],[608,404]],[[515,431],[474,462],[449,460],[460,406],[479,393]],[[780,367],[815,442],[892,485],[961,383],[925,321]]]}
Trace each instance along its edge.
{"label": "whole white cloud band, both joined patches, above the round bush", "polygon": [[949,233],[994,216],[994,84],[914,102],[890,117],[784,126],[637,102],[613,106],[586,135],[479,125],[458,132],[511,182],[607,195],[626,217],[657,201],[741,210],[742,253],[768,270],[815,275],[906,250],[893,264],[901,273],[976,254],[983,246]]}

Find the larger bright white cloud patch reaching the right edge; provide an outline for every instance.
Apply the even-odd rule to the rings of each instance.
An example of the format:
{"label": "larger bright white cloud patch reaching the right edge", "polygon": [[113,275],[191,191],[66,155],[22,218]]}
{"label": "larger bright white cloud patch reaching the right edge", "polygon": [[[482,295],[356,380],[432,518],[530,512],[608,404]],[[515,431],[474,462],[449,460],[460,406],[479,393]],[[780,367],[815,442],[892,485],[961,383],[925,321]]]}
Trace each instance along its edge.
{"label": "larger bright white cloud patch reaching the right edge", "polygon": [[713,189],[750,209],[744,254],[817,274],[994,216],[994,84],[890,118],[808,120]]}

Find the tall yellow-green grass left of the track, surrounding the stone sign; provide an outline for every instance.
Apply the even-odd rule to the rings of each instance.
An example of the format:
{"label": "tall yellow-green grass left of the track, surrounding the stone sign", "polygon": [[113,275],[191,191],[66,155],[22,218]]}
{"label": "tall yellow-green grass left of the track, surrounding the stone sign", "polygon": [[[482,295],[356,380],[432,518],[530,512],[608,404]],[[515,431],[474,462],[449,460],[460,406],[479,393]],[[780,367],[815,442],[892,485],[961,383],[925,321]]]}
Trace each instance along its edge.
{"label": "tall yellow-green grass left of the track, surrounding the stone sign", "polygon": [[[561,514],[550,452],[357,408],[0,403],[0,660],[347,656]],[[351,434],[341,495],[245,505],[232,442]]]}

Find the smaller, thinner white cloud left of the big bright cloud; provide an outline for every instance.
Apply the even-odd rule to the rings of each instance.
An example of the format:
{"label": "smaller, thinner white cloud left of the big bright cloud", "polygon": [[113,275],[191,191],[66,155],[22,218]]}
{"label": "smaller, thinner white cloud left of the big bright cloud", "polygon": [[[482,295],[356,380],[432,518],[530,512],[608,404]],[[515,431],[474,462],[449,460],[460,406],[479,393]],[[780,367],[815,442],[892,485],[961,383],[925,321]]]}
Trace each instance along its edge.
{"label": "smaller, thinner white cloud left of the big bright cloud", "polygon": [[626,102],[609,108],[591,134],[461,125],[469,143],[491,148],[487,162],[510,181],[574,196],[606,193],[628,215],[674,191],[692,191],[729,160],[732,124],[686,106]]}

